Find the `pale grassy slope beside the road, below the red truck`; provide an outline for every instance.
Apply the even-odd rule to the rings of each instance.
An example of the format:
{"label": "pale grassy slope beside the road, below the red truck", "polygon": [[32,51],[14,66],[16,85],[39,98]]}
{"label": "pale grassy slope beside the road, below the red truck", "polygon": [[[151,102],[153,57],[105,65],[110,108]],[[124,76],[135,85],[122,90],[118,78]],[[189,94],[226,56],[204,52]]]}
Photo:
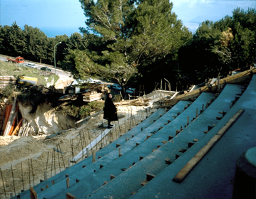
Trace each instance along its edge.
{"label": "pale grassy slope beside the road, below the red truck", "polygon": [[15,63],[7,63],[4,61],[0,61],[0,76],[14,76],[18,77],[18,75],[24,75],[27,77],[36,77],[38,78],[38,85],[46,85],[46,79],[44,77],[48,77],[47,82],[54,81],[54,85],[58,80],[58,75],[47,75],[45,71],[29,68],[25,65],[18,65]]}

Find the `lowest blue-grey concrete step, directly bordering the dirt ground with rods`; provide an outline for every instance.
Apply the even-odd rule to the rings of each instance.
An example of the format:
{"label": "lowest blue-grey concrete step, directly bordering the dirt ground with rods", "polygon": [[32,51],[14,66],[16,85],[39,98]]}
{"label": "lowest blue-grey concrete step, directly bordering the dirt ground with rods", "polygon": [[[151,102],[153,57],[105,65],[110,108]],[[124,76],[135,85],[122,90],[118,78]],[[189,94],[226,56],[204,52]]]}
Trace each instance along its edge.
{"label": "lowest blue-grey concrete step, directly bordering the dirt ground with rods", "polygon": [[[96,156],[97,157],[104,156],[105,154],[108,154],[109,152],[113,151],[113,149],[116,149],[117,143],[123,144],[124,142],[126,142],[126,137],[127,137],[127,139],[129,139],[129,138],[131,138],[132,135],[134,136],[134,135],[138,134],[141,131],[141,128],[145,129],[145,127],[149,127],[151,124],[153,124],[153,122],[155,122],[155,120],[159,119],[163,114],[165,114],[165,109],[163,109],[163,108],[158,109],[153,114],[151,114],[147,119],[145,119],[143,122],[138,124],[133,129],[130,129],[130,131],[128,131],[126,134],[124,134],[120,138],[116,139],[111,144],[108,144],[100,151],[97,151]],[[78,171],[81,168],[83,168],[84,165],[88,166],[90,163],[92,163],[92,156],[89,156],[88,158],[84,159],[83,161],[79,161],[78,163],[71,166],[70,168],[67,168],[66,170],[62,171],[61,173],[58,173],[55,176],[52,176],[51,178],[48,178],[48,180],[43,181],[43,182],[39,183],[38,185],[35,185],[34,190],[36,191],[36,193],[39,193],[39,192],[41,192],[41,188],[46,188],[46,185],[51,187],[52,181],[54,181],[54,183],[56,184],[59,181],[62,181],[63,179],[65,179],[66,175],[70,176],[75,171]],[[23,193],[19,194],[19,196],[21,198],[29,198],[30,197],[29,195],[30,195],[29,190],[26,190]],[[16,198],[16,196],[14,198]]]}

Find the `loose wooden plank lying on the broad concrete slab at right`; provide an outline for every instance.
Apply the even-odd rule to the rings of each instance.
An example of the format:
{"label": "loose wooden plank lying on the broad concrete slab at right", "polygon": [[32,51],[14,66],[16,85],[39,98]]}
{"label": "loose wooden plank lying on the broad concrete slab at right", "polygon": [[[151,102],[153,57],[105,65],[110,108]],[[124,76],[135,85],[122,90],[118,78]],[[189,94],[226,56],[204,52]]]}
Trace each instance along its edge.
{"label": "loose wooden plank lying on the broad concrete slab at right", "polygon": [[195,154],[195,156],[193,156],[193,158],[190,159],[190,161],[188,161],[188,163],[178,172],[178,174],[173,178],[173,181],[176,181],[178,183],[181,183],[184,178],[186,176],[188,176],[188,173],[190,173],[190,171],[195,167],[195,165],[203,158],[203,156],[205,156],[205,154],[207,154],[207,152],[216,144],[216,142],[221,138],[221,136],[223,134],[225,134],[225,132],[227,131],[227,129],[229,129],[232,124],[235,123],[235,121],[238,119],[238,117],[240,117],[240,115],[244,112],[244,109],[240,109],[228,122],[227,124],[225,124],[220,131],[217,132],[217,134],[215,134],[215,136],[213,136],[212,139],[210,139],[210,141],[208,141],[207,144],[205,144],[205,146],[203,146],[202,149],[200,149],[200,151],[198,151],[197,154]]}

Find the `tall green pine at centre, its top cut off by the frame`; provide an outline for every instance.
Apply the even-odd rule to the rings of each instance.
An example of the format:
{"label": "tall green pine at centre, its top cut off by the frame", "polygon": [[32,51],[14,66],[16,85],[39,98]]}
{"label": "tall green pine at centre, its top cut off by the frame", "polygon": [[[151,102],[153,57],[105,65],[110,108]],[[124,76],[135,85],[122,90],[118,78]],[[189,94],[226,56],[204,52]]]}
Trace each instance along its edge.
{"label": "tall green pine at centre, its top cut off by the frame", "polygon": [[176,52],[190,37],[168,0],[80,1],[89,31],[106,46],[75,55],[79,63],[72,71],[81,79],[98,75],[124,87],[140,68]]}

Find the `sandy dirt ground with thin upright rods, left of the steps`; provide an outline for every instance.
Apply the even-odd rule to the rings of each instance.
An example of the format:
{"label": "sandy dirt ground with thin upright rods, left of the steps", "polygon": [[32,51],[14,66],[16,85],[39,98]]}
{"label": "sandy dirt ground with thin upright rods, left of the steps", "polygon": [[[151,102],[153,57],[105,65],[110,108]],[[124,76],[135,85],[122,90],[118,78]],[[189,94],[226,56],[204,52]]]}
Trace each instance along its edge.
{"label": "sandy dirt ground with thin upright rods, left of the steps", "polygon": [[[109,141],[116,140],[144,120],[145,116],[144,107],[118,107],[119,122],[93,149],[98,151]],[[107,121],[103,119],[103,114],[98,114],[79,126],[62,131],[51,139],[46,135],[0,136],[0,198],[5,198],[5,193],[6,198],[10,198],[11,194],[17,195],[21,190],[40,183],[40,179],[44,179],[44,171],[47,171],[48,178],[63,171],[68,166],[68,158],[76,156],[106,130]]]}

